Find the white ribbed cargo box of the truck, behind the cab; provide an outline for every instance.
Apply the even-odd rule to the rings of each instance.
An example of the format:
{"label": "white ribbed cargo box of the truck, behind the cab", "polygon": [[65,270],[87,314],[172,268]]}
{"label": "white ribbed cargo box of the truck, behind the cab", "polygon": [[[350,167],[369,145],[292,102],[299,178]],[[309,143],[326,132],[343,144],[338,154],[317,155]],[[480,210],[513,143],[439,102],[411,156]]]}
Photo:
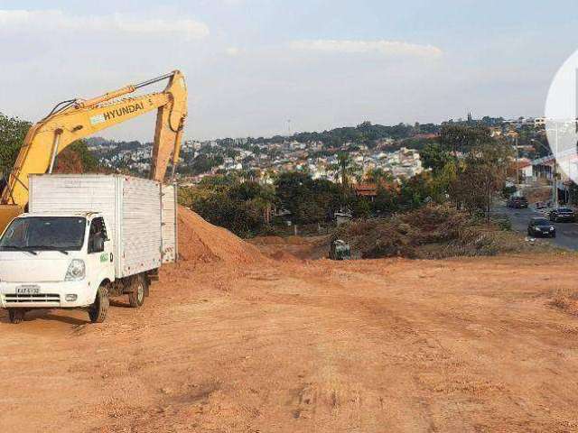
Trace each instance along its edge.
{"label": "white ribbed cargo box of the truck, behind the cab", "polygon": [[[100,212],[116,254],[116,278],[176,259],[176,191],[125,175],[31,175],[30,212]],[[163,219],[168,221],[163,223]],[[163,246],[163,236],[166,245]],[[163,257],[163,252],[166,252]]]}

